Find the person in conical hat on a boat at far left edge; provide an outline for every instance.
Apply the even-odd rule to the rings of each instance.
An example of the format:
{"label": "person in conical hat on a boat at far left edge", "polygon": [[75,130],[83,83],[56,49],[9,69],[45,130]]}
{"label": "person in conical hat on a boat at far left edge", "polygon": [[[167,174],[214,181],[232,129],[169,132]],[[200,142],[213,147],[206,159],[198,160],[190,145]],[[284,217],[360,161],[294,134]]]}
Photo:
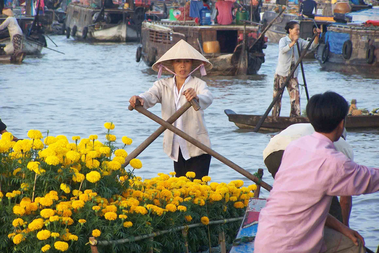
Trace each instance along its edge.
{"label": "person in conical hat on a boat at far left edge", "polygon": [[[18,25],[17,19],[14,17],[13,11],[11,9],[3,9],[2,14],[7,15],[8,17],[0,25],[0,31],[8,28],[10,44],[7,44],[4,48],[7,53],[17,53],[21,51],[22,43],[22,30]],[[13,50],[12,50],[13,45]]]}

